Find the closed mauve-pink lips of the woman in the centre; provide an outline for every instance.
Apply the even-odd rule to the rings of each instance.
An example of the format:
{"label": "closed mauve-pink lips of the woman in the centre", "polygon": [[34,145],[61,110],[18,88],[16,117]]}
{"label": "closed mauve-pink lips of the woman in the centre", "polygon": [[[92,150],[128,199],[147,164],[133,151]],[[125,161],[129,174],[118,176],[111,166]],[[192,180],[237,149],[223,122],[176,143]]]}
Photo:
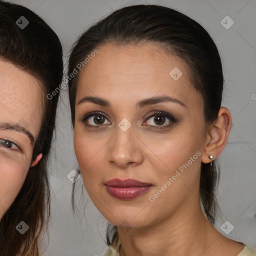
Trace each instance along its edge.
{"label": "closed mauve-pink lips of the woman in the centre", "polygon": [[136,179],[111,179],[105,182],[107,192],[117,199],[130,200],[144,194],[152,184],[144,183]]}

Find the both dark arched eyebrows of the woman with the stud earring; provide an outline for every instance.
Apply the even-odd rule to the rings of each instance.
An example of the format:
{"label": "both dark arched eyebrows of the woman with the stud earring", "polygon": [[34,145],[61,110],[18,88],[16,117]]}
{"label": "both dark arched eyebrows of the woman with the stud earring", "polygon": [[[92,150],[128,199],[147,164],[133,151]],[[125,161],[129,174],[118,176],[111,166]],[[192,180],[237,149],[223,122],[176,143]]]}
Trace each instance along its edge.
{"label": "both dark arched eyebrows of the woman with the stud earring", "polygon": [[[100,97],[92,97],[92,96],[85,96],[82,99],[80,99],[77,103],[77,105],[83,103],[83,102],[92,102],[101,106],[110,107],[111,104],[103,98]],[[158,96],[158,97],[151,97],[151,98],[145,98],[136,103],[136,108],[142,108],[147,105],[152,105],[160,102],[173,102],[178,103],[181,106],[187,107],[182,101],[180,101],[177,98],[172,98],[170,96]]]}

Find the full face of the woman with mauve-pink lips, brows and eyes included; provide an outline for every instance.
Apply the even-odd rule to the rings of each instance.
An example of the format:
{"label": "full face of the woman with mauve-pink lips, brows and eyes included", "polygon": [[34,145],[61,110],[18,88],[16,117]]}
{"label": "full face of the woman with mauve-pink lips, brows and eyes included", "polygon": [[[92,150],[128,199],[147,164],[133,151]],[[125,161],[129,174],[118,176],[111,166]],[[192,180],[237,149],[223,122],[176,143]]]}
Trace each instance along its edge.
{"label": "full face of the woman with mauve-pink lips, brows and eyes included", "polygon": [[74,149],[85,188],[111,223],[136,228],[187,214],[199,202],[205,137],[187,66],[156,45],[106,44],[81,69]]}

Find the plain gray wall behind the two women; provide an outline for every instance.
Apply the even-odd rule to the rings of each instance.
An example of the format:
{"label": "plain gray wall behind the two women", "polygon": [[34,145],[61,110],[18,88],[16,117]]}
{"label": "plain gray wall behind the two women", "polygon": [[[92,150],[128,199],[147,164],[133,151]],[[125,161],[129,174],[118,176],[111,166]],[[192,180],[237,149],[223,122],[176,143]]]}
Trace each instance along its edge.
{"label": "plain gray wall behind the two women", "polygon": [[[234,229],[226,236],[256,247],[256,1],[255,0],[12,0],[27,6],[53,28],[64,55],[75,38],[99,18],[122,6],[155,3],[177,9],[199,22],[213,37],[223,63],[223,106],[229,108],[233,126],[228,143],[218,157],[221,177],[218,202],[222,210],[215,227],[228,220]],[[220,21],[229,16],[226,29]],[[227,25],[230,21],[224,21]],[[106,220],[89,200],[78,201],[80,218],[71,210],[72,182],[67,178],[78,165],[72,144],[72,127],[66,91],[61,92],[56,140],[51,151],[51,222],[45,256],[103,255]],[[82,179],[77,180],[82,186]],[[79,192],[78,192],[79,193]],[[77,195],[78,196],[78,195]],[[78,197],[79,198],[79,197]]]}

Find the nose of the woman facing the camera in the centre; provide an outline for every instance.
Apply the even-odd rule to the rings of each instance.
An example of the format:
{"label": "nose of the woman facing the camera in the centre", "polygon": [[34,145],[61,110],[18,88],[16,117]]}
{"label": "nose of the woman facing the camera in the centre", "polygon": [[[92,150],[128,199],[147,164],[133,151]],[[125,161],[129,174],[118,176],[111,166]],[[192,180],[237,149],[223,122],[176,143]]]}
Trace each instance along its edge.
{"label": "nose of the woman facing the camera in the centre", "polygon": [[132,126],[126,131],[117,127],[116,135],[108,143],[108,161],[119,168],[142,163],[142,143],[133,133]]}

